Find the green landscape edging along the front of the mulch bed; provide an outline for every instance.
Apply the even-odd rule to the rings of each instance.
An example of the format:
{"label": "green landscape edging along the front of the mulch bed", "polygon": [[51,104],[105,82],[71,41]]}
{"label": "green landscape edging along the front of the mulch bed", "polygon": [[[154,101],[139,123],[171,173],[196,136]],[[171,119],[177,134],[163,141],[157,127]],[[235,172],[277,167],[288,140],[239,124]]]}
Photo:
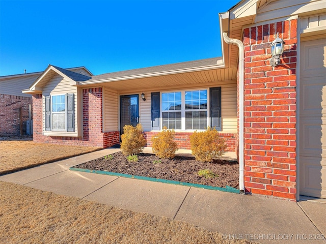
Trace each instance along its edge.
{"label": "green landscape edging along the front of the mulch bed", "polygon": [[175,180],[169,180],[169,179],[158,179],[158,178],[131,175],[131,174],[115,173],[115,172],[110,172],[110,171],[102,171],[102,170],[94,170],[94,169],[80,169],[80,168],[74,168],[74,167],[70,167],[69,169],[73,170],[73,171],[95,173],[95,174],[105,174],[105,175],[119,176],[119,177],[132,178],[132,179],[143,179],[143,180],[161,182],[161,183],[172,184],[172,185],[180,185],[180,186],[186,186],[186,187],[197,187],[197,188],[203,188],[203,189],[214,190],[214,191],[231,192],[231,193],[238,193],[238,194],[240,193],[238,189],[229,187],[229,186],[226,186],[226,188],[211,187],[211,186],[206,186],[206,185],[193,184],[193,183],[187,183],[187,182],[181,182],[181,181],[175,181]]}

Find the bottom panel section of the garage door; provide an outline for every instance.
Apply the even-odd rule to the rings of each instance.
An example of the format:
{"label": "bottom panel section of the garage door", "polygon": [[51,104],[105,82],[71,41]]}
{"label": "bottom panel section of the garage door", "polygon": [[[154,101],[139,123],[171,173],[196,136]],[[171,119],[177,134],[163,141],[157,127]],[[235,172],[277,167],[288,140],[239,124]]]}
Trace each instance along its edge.
{"label": "bottom panel section of the garage door", "polygon": [[[318,166],[319,165],[319,166]],[[326,196],[326,161],[321,158],[300,158],[300,194]]]}

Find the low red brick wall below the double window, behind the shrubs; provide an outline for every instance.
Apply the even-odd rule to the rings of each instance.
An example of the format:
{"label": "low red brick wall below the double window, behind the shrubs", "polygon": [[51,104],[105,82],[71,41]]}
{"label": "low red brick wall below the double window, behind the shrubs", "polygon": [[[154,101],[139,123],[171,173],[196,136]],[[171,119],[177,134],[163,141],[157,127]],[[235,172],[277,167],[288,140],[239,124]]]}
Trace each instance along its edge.
{"label": "low red brick wall below the double window, behind the shrubs", "polygon": [[[146,139],[146,146],[152,146],[151,139],[155,137],[158,132],[144,132]],[[176,132],[175,141],[178,143],[178,148],[191,149],[190,145],[190,136],[193,133],[191,132]],[[221,137],[225,138],[227,141],[227,150],[235,151],[235,134],[233,133],[220,133]]]}

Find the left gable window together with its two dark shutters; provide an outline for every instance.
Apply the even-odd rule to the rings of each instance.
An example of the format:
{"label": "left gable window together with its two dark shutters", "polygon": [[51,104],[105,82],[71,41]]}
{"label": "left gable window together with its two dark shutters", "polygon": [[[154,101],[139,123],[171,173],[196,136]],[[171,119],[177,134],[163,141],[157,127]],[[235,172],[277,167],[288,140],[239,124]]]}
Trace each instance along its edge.
{"label": "left gable window together with its two dark shutters", "polygon": [[74,94],[45,97],[45,130],[74,132]]}

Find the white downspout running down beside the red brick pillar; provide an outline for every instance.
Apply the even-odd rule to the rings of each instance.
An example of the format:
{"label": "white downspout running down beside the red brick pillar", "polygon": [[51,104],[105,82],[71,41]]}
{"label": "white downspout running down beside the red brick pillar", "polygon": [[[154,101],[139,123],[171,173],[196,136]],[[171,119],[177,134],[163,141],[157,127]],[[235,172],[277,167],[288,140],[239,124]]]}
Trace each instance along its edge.
{"label": "white downspout running down beside the red brick pillar", "polygon": [[243,155],[244,47],[243,47],[243,43],[240,40],[229,38],[227,32],[223,32],[223,39],[227,44],[235,44],[239,48],[239,189],[240,189],[240,194],[244,195],[246,193],[246,190],[244,190],[244,155]]}

